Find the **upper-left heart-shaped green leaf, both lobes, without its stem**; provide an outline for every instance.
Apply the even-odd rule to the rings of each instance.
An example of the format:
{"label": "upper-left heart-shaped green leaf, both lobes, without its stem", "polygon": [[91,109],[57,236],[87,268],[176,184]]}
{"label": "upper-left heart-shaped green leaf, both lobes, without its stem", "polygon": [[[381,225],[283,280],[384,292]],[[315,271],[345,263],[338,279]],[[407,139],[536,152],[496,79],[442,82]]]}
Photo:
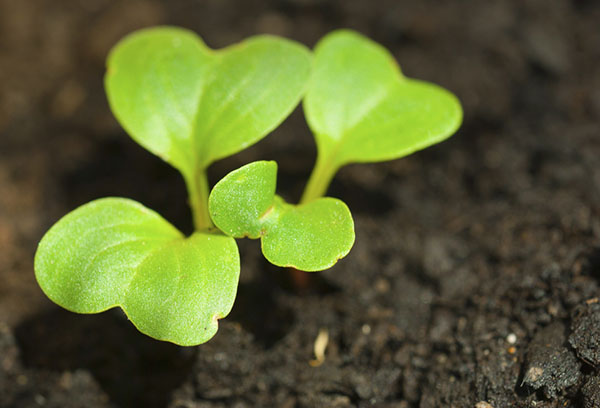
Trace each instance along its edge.
{"label": "upper-left heart-shaped green leaf, both lobes, without its stem", "polygon": [[298,104],[310,65],[304,46],[282,38],[214,51],[190,31],[160,27],[115,46],[105,86],[131,137],[192,177],[279,125]]}

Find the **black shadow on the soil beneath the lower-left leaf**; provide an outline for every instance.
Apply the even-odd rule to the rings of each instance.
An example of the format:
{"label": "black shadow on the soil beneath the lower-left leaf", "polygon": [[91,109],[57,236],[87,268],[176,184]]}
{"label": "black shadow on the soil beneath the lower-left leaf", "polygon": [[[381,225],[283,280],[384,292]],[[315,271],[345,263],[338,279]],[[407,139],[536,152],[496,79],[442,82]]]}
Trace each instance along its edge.
{"label": "black shadow on the soil beneath the lower-left leaf", "polygon": [[140,335],[119,310],[84,316],[55,309],[22,323],[16,337],[27,367],[87,369],[121,407],[165,407],[196,354]]}

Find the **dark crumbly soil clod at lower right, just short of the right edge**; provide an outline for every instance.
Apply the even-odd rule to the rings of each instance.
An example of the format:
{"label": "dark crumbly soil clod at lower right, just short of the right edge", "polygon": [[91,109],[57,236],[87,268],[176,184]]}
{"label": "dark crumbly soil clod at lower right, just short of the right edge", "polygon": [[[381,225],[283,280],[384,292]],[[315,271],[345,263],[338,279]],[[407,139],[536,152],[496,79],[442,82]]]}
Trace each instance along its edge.
{"label": "dark crumbly soil clod at lower right, just short of the right edge", "polygon": [[527,347],[523,383],[542,389],[548,398],[555,398],[581,376],[581,364],[565,346],[565,340],[565,326],[556,322],[540,330]]}

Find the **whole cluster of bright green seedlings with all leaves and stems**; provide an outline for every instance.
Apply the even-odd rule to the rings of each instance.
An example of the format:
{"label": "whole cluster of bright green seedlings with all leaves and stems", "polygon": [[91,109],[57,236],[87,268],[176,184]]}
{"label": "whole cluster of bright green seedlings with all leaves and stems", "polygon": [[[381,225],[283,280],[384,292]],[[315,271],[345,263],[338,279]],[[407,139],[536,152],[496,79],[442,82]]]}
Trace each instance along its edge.
{"label": "whole cluster of bright green seedlings with all leaves and stems", "polygon": [[[94,200],[42,238],[36,278],[68,310],[120,307],[141,332],[179,345],[208,341],[230,312],[236,238],[260,239],[278,266],[331,267],[354,243],[348,207],[323,197],[339,168],[406,156],[462,120],[453,94],[406,78],[385,48],[349,30],[311,52],[264,35],[212,50],[187,30],[145,29],[112,50],[105,87],[127,133],[181,172],[195,232],[185,237],[126,198]],[[211,191],[206,169],[265,137],[301,100],[318,157],[300,203],[276,194],[272,161],[247,164]]]}

